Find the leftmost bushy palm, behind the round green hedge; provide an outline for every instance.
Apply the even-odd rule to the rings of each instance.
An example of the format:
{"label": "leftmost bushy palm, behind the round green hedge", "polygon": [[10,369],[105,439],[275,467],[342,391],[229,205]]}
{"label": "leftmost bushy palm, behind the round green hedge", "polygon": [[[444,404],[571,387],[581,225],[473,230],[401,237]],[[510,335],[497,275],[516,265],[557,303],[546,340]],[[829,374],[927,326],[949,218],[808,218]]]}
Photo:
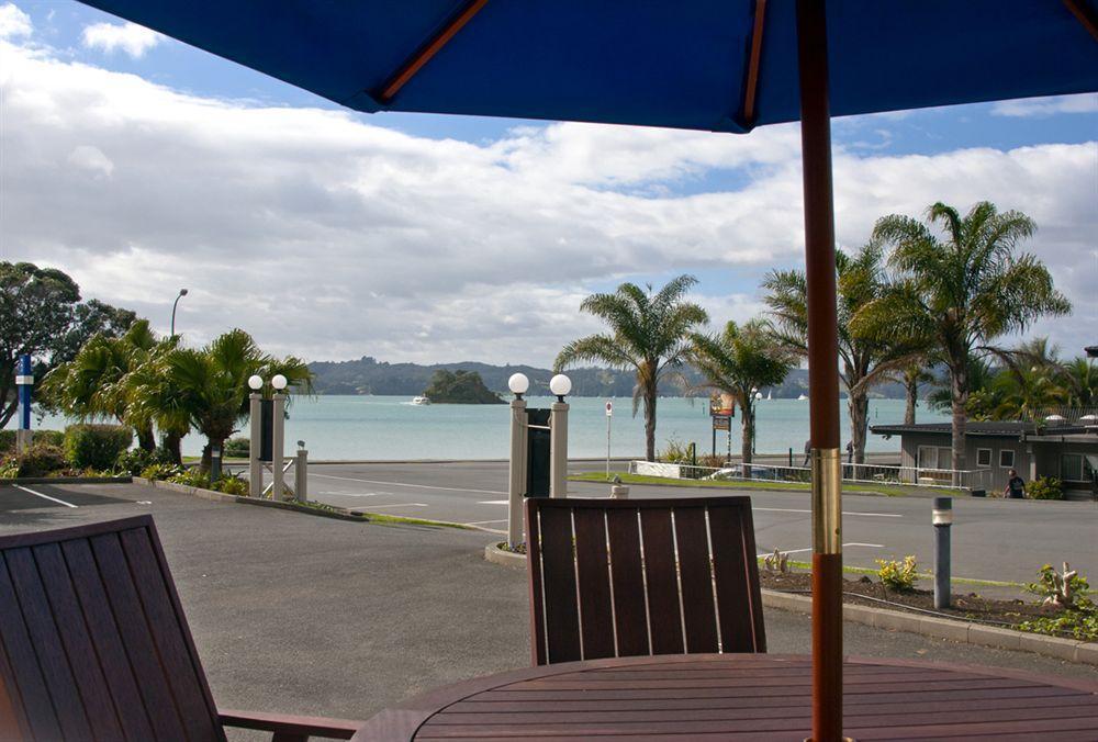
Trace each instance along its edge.
{"label": "leftmost bushy palm, behind the round green hedge", "polygon": [[43,394],[64,412],[80,418],[113,417],[131,426],[138,445],[156,448],[152,423],[133,414],[125,378],[148,361],[157,340],[148,319],[138,319],[122,337],[96,335],[76,357],[43,380]]}

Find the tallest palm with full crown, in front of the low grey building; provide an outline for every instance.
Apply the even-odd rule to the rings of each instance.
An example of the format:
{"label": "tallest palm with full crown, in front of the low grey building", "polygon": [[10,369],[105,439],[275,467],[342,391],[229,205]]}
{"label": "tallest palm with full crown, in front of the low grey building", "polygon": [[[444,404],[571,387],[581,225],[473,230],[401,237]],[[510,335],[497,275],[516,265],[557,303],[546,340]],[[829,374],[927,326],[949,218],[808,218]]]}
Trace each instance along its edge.
{"label": "tallest palm with full crown, in front of the low grey building", "polygon": [[1035,229],[1026,214],[999,213],[987,201],[964,216],[939,202],[927,210],[926,222],[892,214],[874,227],[874,238],[894,246],[888,262],[904,281],[862,319],[932,340],[950,376],[954,470],[965,466],[970,357],[996,352],[996,338],[1022,331],[1039,317],[1071,312],[1044,265],[1016,254]]}

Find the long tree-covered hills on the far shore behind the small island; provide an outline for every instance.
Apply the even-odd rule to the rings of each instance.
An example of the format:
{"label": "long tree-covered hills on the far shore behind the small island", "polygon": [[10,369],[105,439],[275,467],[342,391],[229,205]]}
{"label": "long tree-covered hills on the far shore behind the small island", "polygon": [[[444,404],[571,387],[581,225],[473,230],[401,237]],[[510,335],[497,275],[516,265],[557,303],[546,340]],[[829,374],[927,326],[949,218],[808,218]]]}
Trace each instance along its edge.
{"label": "long tree-covered hills on the far shore behind the small island", "polygon": [[[474,371],[481,375],[484,385],[493,392],[509,396],[507,379],[516,372],[525,373],[530,379],[531,395],[549,395],[550,369],[539,369],[534,366],[491,366],[477,361],[458,363],[389,363],[363,356],[357,361],[316,361],[309,364],[315,374],[314,385],[317,394],[378,394],[408,395],[423,394],[430,385],[436,371]],[[572,394],[575,396],[632,396],[634,374],[628,371],[613,369],[569,369],[568,376],[572,380]],[[686,370],[686,376],[692,383],[697,383],[699,376],[693,369]],[[777,398],[796,398],[808,393],[808,371],[794,369],[785,382],[773,390],[764,389],[763,394],[773,391]],[[675,384],[664,382],[660,386],[664,396],[680,396],[682,390]],[[899,384],[882,384],[873,390],[874,396],[903,398],[904,387]]]}

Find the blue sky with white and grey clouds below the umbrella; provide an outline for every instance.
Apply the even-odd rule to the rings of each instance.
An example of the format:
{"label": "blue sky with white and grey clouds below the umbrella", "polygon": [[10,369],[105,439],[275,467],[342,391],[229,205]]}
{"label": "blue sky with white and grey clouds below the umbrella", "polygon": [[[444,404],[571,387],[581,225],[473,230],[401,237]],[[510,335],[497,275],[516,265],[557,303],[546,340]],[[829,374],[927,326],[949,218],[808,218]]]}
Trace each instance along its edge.
{"label": "blue sky with white and grey clouds below the umbrella", "polygon": [[[802,261],[799,133],[351,113],[76,2],[0,4],[0,259],[201,344],[310,360],[547,364],[582,299],[701,279],[715,322]],[[1098,341],[1098,95],[837,120],[836,218],[990,200]]]}

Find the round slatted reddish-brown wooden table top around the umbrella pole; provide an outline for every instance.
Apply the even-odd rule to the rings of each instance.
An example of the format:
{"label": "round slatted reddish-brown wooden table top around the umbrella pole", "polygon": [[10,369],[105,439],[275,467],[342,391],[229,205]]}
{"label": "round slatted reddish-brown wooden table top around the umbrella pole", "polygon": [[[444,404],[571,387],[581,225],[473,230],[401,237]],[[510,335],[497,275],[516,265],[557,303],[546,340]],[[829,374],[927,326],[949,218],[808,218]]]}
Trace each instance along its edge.
{"label": "round slatted reddish-brown wooden table top around the umbrella pole", "polygon": [[[804,740],[811,660],[694,654],[570,662],[439,688],[354,740]],[[1098,740],[1098,679],[848,659],[858,740]]]}

